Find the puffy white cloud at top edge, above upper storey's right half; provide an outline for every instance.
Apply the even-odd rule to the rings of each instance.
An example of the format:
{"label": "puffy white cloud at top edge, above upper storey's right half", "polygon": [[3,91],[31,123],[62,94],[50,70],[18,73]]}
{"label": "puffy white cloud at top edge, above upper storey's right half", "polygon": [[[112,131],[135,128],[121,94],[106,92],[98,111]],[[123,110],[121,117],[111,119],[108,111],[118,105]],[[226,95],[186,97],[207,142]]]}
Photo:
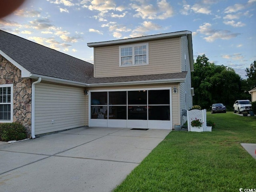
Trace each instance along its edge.
{"label": "puffy white cloud at top edge, above upper storey's right half", "polygon": [[132,8],[138,12],[134,16],[143,19],[166,19],[174,15],[172,6],[166,0],[158,1],[156,5],[140,0],[138,4],[132,4]]}

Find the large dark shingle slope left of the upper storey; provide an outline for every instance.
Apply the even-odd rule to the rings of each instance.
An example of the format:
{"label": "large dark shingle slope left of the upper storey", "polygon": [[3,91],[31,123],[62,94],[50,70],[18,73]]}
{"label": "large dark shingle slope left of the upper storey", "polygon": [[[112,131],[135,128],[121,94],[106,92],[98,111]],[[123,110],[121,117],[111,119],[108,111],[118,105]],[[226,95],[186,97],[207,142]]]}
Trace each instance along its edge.
{"label": "large dark shingle slope left of the upper storey", "polygon": [[11,58],[14,65],[18,64],[30,72],[30,76],[42,75],[76,82],[86,82],[93,76],[93,64],[2,30],[0,51],[2,56]]}

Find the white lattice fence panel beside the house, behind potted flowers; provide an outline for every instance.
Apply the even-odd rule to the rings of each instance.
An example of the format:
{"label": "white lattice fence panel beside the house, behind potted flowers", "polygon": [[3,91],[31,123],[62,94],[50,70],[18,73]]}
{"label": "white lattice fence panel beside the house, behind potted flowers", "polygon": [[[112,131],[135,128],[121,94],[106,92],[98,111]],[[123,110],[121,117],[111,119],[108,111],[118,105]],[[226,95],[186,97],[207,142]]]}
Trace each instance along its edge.
{"label": "white lattice fence panel beside the house, behind potted flowers", "polygon": [[188,116],[188,131],[191,131],[191,122],[195,120],[195,118],[199,119],[201,122],[203,122],[203,130],[206,131],[206,109],[204,110],[190,110],[187,111]]}

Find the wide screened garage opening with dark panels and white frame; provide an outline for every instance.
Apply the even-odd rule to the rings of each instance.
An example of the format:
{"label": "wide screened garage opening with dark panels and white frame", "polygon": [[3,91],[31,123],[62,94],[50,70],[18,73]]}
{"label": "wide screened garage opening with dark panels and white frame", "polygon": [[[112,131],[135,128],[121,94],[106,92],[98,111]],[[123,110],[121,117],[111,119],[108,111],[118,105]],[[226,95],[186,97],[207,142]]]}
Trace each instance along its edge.
{"label": "wide screened garage opening with dark panels and white frame", "polygon": [[90,126],[149,128],[149,121],[170,126],[170,90],[90,92]]}

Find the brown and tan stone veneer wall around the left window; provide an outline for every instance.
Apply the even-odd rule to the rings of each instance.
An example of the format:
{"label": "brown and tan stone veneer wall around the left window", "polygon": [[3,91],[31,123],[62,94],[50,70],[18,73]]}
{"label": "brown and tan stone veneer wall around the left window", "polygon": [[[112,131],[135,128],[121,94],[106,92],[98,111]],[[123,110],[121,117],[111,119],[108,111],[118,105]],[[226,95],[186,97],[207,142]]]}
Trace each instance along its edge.
{"label": "brown and tan stone veneer wall around the left window", "polygon": [[31,79],[0,55],[0,84],[13,84],[13,122],[26,127],[31,135]]}

